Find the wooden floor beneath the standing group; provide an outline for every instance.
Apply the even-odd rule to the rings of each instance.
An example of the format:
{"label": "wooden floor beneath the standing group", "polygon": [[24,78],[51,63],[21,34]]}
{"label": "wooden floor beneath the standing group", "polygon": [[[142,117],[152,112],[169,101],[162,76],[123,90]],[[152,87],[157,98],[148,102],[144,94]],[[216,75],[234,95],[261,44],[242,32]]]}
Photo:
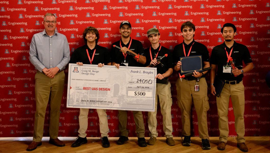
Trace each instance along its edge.
{"label": "wooden floor beneath the standing group", "polygon": [[[139,147],[136,137],[129,137],[129,141],[125,142],[123,145],[117,145],[116,141],[118,138],[109,137],[110,147],[103,148],[100,138],[87,138],[88,143],[83,144],[80,147],[73,148],[71,144],[76,140],[76,137],[58,137],[60,140],[65,142],[65,147],[57,147],[52,144],[49,144],[49,137],[43,137],[42,145],[37,149],[31,151],[32,152],[48,152],[48,153],[58,153],[58,152],[98,152],[98,153],[158,153],[158,152],[204,152],[204,153],[212,153],[212,152],[242,152],[237,148],[237,141],[234,140],[234,137],[229,137],[226,149],[224,151],[220,151],[217,149],[218,145],[218,137],[211,137],[210,150],[203,150],[201,148],[201,139],[198,137],[191,137],[191,146],[185,147],[182,146],[182,140],[180,137],[174,137],[176,141],[175,146],[168,146],[166,144],[166,138],[158,137],[155,145],[148,145],[147,147]],[[270,152],[270,141],[269,137],[245,137],[246,145],[248,147],[248,152]],[[28,152],[26,148],[32,142],[33,137],[16,137],[16,138],[0,138],[0,152]],[[149,137],[146,137],[148,140]]]}

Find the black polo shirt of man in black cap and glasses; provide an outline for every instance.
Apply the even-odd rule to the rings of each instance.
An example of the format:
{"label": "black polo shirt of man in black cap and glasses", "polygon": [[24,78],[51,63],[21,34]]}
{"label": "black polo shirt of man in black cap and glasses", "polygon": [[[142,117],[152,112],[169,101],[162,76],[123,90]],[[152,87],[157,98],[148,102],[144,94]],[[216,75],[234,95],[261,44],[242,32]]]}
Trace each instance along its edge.
{"label": "black polo shirt of man in black cap and glasses", "polygon": [[[131,39],[130,39],[131,40]],[[130,43],[129,40],[129,43]],[[115,62],[117,64],[121,64],[122,62],[124,62],[124,55],[123,52],[121,52],[119,49],[114,48],[113,45],[119,46],[120,47],[120,41],[121,41],[121,45],[122,47],[127,47],[129,48],[129,43],[127,43],[126,45],[122,42],[122,40],[119,40],[115,43],[112,44],[112,49],[111,49],[111,57],[112,57],[112,62]],[[130,48],[131,51],[133,51],[136,54],[139,55],[143,55],[144,56],[144,50],[143,50],[143,45],[141,44],[141,42],[139,40],[135,40],[132,39]],[[138,66],[138,67],[143,67],[143,64],[137,62],[137,60],[135,60],[132,56],[127,55],[126,57],[126,62],[129,63],[129,66]]]}

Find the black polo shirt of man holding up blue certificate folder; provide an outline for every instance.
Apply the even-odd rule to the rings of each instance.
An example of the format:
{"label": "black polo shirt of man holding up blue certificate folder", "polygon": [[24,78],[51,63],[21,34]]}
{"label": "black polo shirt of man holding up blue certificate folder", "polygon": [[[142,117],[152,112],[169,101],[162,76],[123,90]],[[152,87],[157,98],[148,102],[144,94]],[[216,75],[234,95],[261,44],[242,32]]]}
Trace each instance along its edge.
{"label": "black polo shirt of man holding up blue certificate folder", "polygon": [[[202,43],[195,42],[194,39],[188,45],[184,41],[183,41],[183,43],[184,43],[184,46],[185,46],[186,55],[188,55],[190,47],[194,43],[192,45],[189,56],[201,55],[202,56],[202,61],[204,61],[204,62],[209,62],[210,61],[209,52],[207,50],[207,47],[205,47]],[[177,63],[178,61],[180,61],[180,57],[185,57],[184,49],[183,49],[183,43],[180,43],[179,45],[176,45],[174,47],[174,50],[173,50],[173,63]],[[203,67],[204,67],[204,62],[202,64]],[[181,74],[181,70],[179,70],[178,72]],[[205,74],[204,74],[203,77],[205,77]],[[189,76],[187,78],[194,78],[194,76]]]}

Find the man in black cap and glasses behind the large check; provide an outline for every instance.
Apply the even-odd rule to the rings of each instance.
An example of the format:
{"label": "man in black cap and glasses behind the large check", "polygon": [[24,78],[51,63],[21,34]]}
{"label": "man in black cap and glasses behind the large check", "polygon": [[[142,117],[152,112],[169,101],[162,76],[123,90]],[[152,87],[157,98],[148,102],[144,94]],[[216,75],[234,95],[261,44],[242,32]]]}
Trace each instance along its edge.
{"label": "man in black cap and glasses behind the large check", "polygon": [[[126,66],[143,66],[146,62],[146,58],[143,56],[143,45],[140,41],[131,39],[131,24],[128,21],[124,21],[120,24],[119,32],[121,33],[121,40],[112,44],[111,57],[112,65],[119,68],[120,64]],[[113,45],[120,46],[121,51],[114,48]],[[132,57],[127,55],[129,51],[136,55]],[[137,58],[139,56],[139,58]],[[144,123],[143,114],[141,111],[133,111],[133,117],[136,125],[136,133],[140,147],[146,147],[147,143],[144,138]],[[116,142],[121,145],[124,144],[128,139],[129,130],[127,130],[127,111],[118,110],[119,130],[121,132],[119,140]]]}

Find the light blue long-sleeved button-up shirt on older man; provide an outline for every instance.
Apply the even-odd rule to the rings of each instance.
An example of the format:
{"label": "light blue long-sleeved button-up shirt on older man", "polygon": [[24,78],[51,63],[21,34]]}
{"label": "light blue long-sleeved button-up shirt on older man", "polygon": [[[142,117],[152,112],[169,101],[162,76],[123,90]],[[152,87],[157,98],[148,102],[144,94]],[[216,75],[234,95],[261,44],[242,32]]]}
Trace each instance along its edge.
{"label": "light blue long-sleeved button-up shirt on older man", "polygon": [[29,55],[30,62],[40,72],[45,67],[47,69],[58,67],[63,70],[70,60],[68,40],[65,35],[56,31],[51,37],[45,30],[36,33],[30,44]]}

